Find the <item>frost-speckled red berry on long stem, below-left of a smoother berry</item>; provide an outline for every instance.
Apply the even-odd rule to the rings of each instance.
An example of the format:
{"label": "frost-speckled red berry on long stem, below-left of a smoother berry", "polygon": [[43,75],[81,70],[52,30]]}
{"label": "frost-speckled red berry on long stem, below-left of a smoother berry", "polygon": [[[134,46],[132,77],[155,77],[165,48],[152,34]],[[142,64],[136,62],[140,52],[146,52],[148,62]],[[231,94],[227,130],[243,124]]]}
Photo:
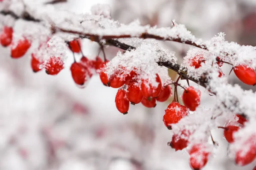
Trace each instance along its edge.
{"label": "frost-speckled red berry on long stem, below-left of a smoother berry", "polygon": [[168,129],[171,129],[171,124],[175,124],[180,121],[184,116],[188,114],[187,108],[180,105],[178,102],[172,102],[168,105],[163,115],[163,122]]}

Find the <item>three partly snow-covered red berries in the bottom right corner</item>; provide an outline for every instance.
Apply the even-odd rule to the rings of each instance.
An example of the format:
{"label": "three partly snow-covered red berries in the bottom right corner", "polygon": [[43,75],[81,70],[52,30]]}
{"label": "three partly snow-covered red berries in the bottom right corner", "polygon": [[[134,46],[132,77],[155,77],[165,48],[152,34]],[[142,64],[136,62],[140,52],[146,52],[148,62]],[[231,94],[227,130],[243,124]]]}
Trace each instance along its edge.
{"label": "three partly snow-covered red berries in the bottom right corner", "polygon": [[[244,123],[247,122],[247,118],[244,114],[236,114],[236,121],[240,124],[239,126],[236,125],[228,125],[226,127],[218,127],[224,129],[224,137],[229,143],[233,143],[235,141],[233,135],[237,131],[239,131],[243,126]],[[244,166],[250,164],[254,159],[256,159],[256,136],[252,135],[248,138],[248,140],[244,143],[246,145],[250,145],[250,150],[244,152],[241,148],[240,150],[236,151],[235,162],[239,166]]]}

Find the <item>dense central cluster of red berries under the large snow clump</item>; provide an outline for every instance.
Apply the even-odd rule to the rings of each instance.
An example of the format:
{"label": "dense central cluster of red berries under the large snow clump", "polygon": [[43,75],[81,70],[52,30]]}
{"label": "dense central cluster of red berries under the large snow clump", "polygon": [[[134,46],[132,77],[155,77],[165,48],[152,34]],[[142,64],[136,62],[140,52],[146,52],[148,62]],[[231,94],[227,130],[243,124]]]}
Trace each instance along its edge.
{"label": "dense central cluster of red berries under the large snow clump", "polygon": [[[102,75],[104,75],[105,79],[102,78]],[[157,101],[165,102],[172,95],[172,88],[170,85],[162,86],[158,74],[156,74],[155,78],[157,87],[151,85],[148,79],[140,79],[142,83],[139,85],[138,75],[134,71],[131,71],[124,79],[118,76],[113,75],[108,78],[104,71],[100,74],[101,80],[104,80],[102,81],[103,84],[112,88],[119,88],[115,102],[117,110],[123,114],[128,113],[130,103],[135,105],[141,102],[147,108],[154,108],[157,105]]]}

